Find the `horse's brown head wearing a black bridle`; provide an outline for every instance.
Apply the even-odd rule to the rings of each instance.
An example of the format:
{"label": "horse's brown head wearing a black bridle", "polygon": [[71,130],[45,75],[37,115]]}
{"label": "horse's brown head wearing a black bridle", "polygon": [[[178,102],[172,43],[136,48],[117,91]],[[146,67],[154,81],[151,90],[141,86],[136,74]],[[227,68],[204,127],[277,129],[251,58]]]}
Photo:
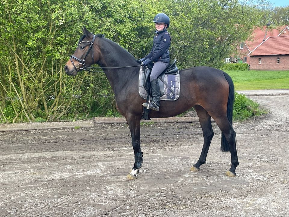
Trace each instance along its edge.
{"label": "horse's brown head wearing a black bridle", "polygon": [[82,31],[83,36],[78,41],[77,49],[64,67],[68,75],[77,75],[77,72],[99,61],[100,50],[95,44],[96,36],[85,27]]}

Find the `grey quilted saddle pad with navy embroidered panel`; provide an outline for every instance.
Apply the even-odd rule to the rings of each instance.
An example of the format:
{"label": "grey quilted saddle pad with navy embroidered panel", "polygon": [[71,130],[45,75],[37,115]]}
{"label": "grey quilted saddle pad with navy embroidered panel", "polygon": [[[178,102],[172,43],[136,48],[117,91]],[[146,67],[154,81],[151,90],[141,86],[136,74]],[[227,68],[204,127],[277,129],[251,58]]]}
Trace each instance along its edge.
{"label": "grey quilted saddle pad with navy embroidered panel", "polygon": [[[144,86],[143,86],[143,78],[144,78],[144,72],[142,70],[142,67],[140,68],[139,71],[139,76],[138,76],[138,93],[141,96],[141,98],[143,99],[147,99],[148,97],[148,92],[145,90]],[[160,96],[160,100],[177,100],[179,99],[180,96],[180,74],[176,74],[176,75],[165,75],[164,77],[164,81],[166,82],[167,86],[169,86],[172,91],[175,92],[172,93],[171,90],[169,90],[169,88],[166,85],[164,86],[164,90],[163,90],[163,96]],[[162,81],[160,79],[158,79],[158,82],[162,83]]]}

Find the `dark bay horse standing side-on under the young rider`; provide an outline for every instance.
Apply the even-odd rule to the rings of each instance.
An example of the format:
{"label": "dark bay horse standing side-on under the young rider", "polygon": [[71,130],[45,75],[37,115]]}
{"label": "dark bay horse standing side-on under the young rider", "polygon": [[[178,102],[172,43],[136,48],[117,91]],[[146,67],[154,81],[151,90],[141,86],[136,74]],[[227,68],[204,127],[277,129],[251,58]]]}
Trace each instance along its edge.
{"label": "dark bay horse standing side-on under the young rider", "polygon": [[[140,121],[143,112],[142,103],[145,99],[142,99],[138,93],[140,62],[117,43],[104,38],[104,35],[94,35],[85,27],[82,30],[83,36],[79,39],[76,51],[65,65],[65,72],[68,75],[77,75],[79,71],[94,63],[103,69],[115,94],[117,109],[129,124],[135,163],[127,178],[135,179],[143,162],[140,148]],[[232,127],[234,85],[231,77],[215,68],[193,67],[180,70],[180,84],[179,99],[161,101],[160,110],[150,111],[150,118],[172,117],[194,106],[203,130],[204,145],[200,158],[191,167],[191,171],[199,171],[200,165],[206,162],[214,135],[211,124],[211,117],[213,117],[222,131],[221,150],[231,153],[232,165],[226,175],[235,176],[235,169],[239,162],[236,133]]]}

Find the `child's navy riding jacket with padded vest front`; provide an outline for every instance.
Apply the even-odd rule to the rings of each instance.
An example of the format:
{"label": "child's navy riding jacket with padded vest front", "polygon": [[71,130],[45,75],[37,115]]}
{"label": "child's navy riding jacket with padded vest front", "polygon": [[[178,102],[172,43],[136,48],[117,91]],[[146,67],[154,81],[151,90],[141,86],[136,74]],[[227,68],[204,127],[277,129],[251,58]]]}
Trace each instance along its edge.
{"label": "child's navy riding jacket with padded vest front", "polygon": [[155,31],[154,44],[151,52],[146,55],[145,59],[150,59],[151,61],[157,62],[162,61],[169,63],[169,47],[171,45],[171,36],[168,31]]}

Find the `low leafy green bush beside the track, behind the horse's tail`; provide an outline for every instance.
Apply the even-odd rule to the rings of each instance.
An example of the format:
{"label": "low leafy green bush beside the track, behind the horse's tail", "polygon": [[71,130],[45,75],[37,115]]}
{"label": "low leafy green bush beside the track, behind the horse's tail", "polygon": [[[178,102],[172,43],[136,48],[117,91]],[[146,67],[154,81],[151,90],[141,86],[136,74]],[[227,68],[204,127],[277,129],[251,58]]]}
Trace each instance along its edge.
{"label": "low leafy green bush beside the track, behind the horse's tail", "polygon": [[251,116],[265,114],[266,111],[259,108],[259,104],[249,99],[245,94],[235,92],[235,103],[233,110],[234,120],[245,120]]}

